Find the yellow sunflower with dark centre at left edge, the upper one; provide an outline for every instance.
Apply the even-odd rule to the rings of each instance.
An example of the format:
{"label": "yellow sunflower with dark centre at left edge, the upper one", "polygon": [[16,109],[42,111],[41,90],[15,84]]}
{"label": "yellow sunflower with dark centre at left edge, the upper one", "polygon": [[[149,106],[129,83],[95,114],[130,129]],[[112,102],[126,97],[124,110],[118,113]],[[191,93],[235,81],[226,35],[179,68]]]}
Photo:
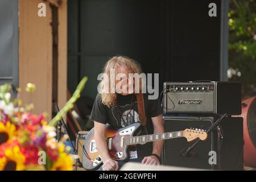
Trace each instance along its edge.
{"label": "yellow sunflower with dark centre at left edge, the upper one", "polygon": [[15,132],[15,125],[11,124],[10,122],[7,122],[6,125],[4,125],[0,121],[0,144],[10,142],[15,135]]}

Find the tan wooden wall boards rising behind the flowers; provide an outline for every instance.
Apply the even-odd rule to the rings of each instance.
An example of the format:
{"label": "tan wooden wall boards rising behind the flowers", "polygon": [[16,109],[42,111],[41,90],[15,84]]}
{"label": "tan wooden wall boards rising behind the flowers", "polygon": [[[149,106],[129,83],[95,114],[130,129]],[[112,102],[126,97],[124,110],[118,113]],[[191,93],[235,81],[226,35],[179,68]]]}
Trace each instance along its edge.
{"label": "tan wooden wall boards rising behind the flowers", "polygon": [[[46,17],[38,16],[40,0],[19,0],[19,88],[23,104],[34,103],[34,113],[52,114],[52,9],[46,4]],[[67,0],[58,9],[57,103],[67,101]],[[28,82],[36,85],[34,93],[25,92]]]}

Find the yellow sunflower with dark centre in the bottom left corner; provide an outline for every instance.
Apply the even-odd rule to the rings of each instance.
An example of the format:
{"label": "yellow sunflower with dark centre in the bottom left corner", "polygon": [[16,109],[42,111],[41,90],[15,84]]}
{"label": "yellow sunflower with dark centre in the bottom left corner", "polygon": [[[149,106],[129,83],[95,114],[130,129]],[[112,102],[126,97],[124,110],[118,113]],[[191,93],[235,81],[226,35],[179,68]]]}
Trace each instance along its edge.
{"label": "yellow sunflower with dark centre in the bottom left corner", "polygon": [[22,171],[25,169],[26,158],[18,146],[7,148],[5,155],[0,158],[0,171]]}

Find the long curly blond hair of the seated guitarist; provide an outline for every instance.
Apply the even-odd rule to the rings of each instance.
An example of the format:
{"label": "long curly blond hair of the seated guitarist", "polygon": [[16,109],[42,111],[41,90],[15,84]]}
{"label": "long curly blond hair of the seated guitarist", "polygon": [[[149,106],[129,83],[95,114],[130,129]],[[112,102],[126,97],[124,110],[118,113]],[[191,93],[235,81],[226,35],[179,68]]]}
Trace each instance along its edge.
{"label": "long curly blond hair of the seated guitarist", "polygon": [[[138,73],[139,75],[142,73],[141,65],[137,61],[130,59],[130,57],[127,56],[112,57],[110,60],[106,62],[103,73],[106,73],[110,78],[110,70],[117,69],[121,65],[127,68],[128,73]],[[101,80],[101,89],[104,89],[104,86],[108,85],[108,89],[110,90],[110,84],[106,84],[106,82],[108,81],[104,80],[104,78]],[[117,93],[101,93],[101,99],[104,105],[108,107],[114,106],[115,101],[117,99]]]}

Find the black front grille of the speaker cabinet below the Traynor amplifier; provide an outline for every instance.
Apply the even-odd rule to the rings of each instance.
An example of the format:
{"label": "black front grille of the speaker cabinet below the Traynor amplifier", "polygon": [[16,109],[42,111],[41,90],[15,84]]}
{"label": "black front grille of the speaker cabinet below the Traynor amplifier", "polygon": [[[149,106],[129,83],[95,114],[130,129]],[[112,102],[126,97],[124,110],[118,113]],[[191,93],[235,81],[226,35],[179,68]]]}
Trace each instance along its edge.
{"label": "black front grille of the speaker cabinet below the Traynor amplifier", "polygon": [[[184,129],[197,128],[197,129],[208,129],[212,123],[213,118],[201,119],[199,118],[168,118],[164,119],[164,127],[166,132],[168,131],[179,131]],[[192,168],[203,168],[212,169],[212,165],[209,164],[208,160],[210,156],[208,155],[214,148],[214,136],[213,132],[208,135],[208,139],[201,141],[193,149],[192,152],[196,154],[195,157],[185,157],[180,156],[179,153],[184,147],[188,146],[187,139],[176,138],[164,141],[164,163],[168,166],[179,166],[179,167],[192,167]]]}

